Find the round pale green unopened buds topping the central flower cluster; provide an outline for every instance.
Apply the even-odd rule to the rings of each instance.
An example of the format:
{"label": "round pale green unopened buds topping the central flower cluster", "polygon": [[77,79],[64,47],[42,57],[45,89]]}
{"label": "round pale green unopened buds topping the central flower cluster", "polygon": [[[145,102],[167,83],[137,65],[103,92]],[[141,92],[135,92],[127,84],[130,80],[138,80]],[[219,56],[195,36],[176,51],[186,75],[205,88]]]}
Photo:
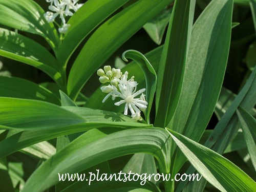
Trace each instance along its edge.
{"label": "round pale green unopened buds topping the central flower cluster", "polygon": [[99,69],[97,71],[97,75],[100,76],[99,81],[101,83],[110,82],[112,86],[116,87],[118,85],[117,79],[119,79],[122,76],[121,70],[111,68],[111,66],[104,66],[103,69]]}

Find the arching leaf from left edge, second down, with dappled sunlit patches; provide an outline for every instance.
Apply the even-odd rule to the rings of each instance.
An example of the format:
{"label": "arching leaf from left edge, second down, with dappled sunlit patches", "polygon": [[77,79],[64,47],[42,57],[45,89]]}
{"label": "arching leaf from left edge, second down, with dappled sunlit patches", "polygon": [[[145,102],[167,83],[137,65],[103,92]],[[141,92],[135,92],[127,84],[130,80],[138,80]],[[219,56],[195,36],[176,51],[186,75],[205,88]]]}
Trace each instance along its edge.
{"label": "arching leaf from left edge, second down, with dappled sunlit patches", "polygon": [[0,28],[0,55],[36,67],[58,84],[62,83],[60,73],[57,71],[57,61],[53,55],[46,48],[23,35]]}

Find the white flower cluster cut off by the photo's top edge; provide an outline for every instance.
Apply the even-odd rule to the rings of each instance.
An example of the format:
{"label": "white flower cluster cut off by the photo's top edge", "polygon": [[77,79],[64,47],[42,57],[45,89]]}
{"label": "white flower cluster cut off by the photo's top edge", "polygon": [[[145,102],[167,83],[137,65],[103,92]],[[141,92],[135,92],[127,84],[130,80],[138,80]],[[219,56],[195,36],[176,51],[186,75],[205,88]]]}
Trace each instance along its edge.
{"label": "white flower cluster cut off by the photo's top edge", "polygon": [[59,15],[62,22],[59,32],[66,33],[70,25],[66,24],[65,17],[72,16],[73,12],[71,12],[71,10],[76,12],[83,5],[77,4],[78,1],[79,0],[46,0],[46,2],[51,3],[48,7],[50,11],[47,11],[44,15],[46,20],[49,23],[54,22],[55,18]]}

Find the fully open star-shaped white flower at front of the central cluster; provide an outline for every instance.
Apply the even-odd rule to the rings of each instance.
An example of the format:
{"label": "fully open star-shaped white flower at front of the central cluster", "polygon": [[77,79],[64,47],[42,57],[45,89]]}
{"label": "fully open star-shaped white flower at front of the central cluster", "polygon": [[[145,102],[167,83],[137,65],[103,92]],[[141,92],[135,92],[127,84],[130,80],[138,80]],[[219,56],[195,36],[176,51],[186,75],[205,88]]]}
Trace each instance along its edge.
{"label": "fully open star-shaped white flower at front of the central cluster", "polygon": [[135,88],[131,87],[130,84],[126,84],[126,88],[123,89],[122,87],[120,88],[120,92],[115,92],[116,95],[118,95],[119,97],[121,97],[123,100],[120,100],[119,102],[116,102],[115,105],[120,105],[125,103],[124,106],[124,115],[127,115],[128,113],[128,108],[131,111],[132,115],[135,113],[140,113],[140,109],[146,109],[146,105],[147,102],[141,100],[140,98],[135,98],[136,96],[140,95],[141,93],[143,93],[146,89],[141,89],[137,92]]}

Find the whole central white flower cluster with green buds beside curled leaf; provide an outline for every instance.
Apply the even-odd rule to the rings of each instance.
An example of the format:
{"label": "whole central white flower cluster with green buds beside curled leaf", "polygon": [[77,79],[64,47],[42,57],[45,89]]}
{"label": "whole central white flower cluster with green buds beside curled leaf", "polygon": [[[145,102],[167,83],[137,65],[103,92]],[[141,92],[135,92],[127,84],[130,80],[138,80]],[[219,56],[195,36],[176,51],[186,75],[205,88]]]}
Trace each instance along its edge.
{"label": "whole central white flower cluster with green buds beside curled leaf", "polygon": [[[99,81],[101,83],[110,82],[108,86],[102,86],[100,88],[103,93],[108,93],[102,102],[105,102],[110,96],[112,96],[112,100],[115,100],[116,97],[120,97],[122,100],[116,102],[115,105],[119,106],[125,103],[124,115],[127,115],[129,109],[132,113],[132,118],[141,121],[142,117],[140,116],[140,112],[145,111],[147,105],[145,95],[143,94],[146,89],[136,91],[138,83],[134,80],[134,76],[127,80],[127,71],[122,75],[120,69],[111,69],[110,66],[105,66],[104,70],[99,69],[97,74],[100,76]],[[141,96],[139,98],[135,98],[140,94]]]}

